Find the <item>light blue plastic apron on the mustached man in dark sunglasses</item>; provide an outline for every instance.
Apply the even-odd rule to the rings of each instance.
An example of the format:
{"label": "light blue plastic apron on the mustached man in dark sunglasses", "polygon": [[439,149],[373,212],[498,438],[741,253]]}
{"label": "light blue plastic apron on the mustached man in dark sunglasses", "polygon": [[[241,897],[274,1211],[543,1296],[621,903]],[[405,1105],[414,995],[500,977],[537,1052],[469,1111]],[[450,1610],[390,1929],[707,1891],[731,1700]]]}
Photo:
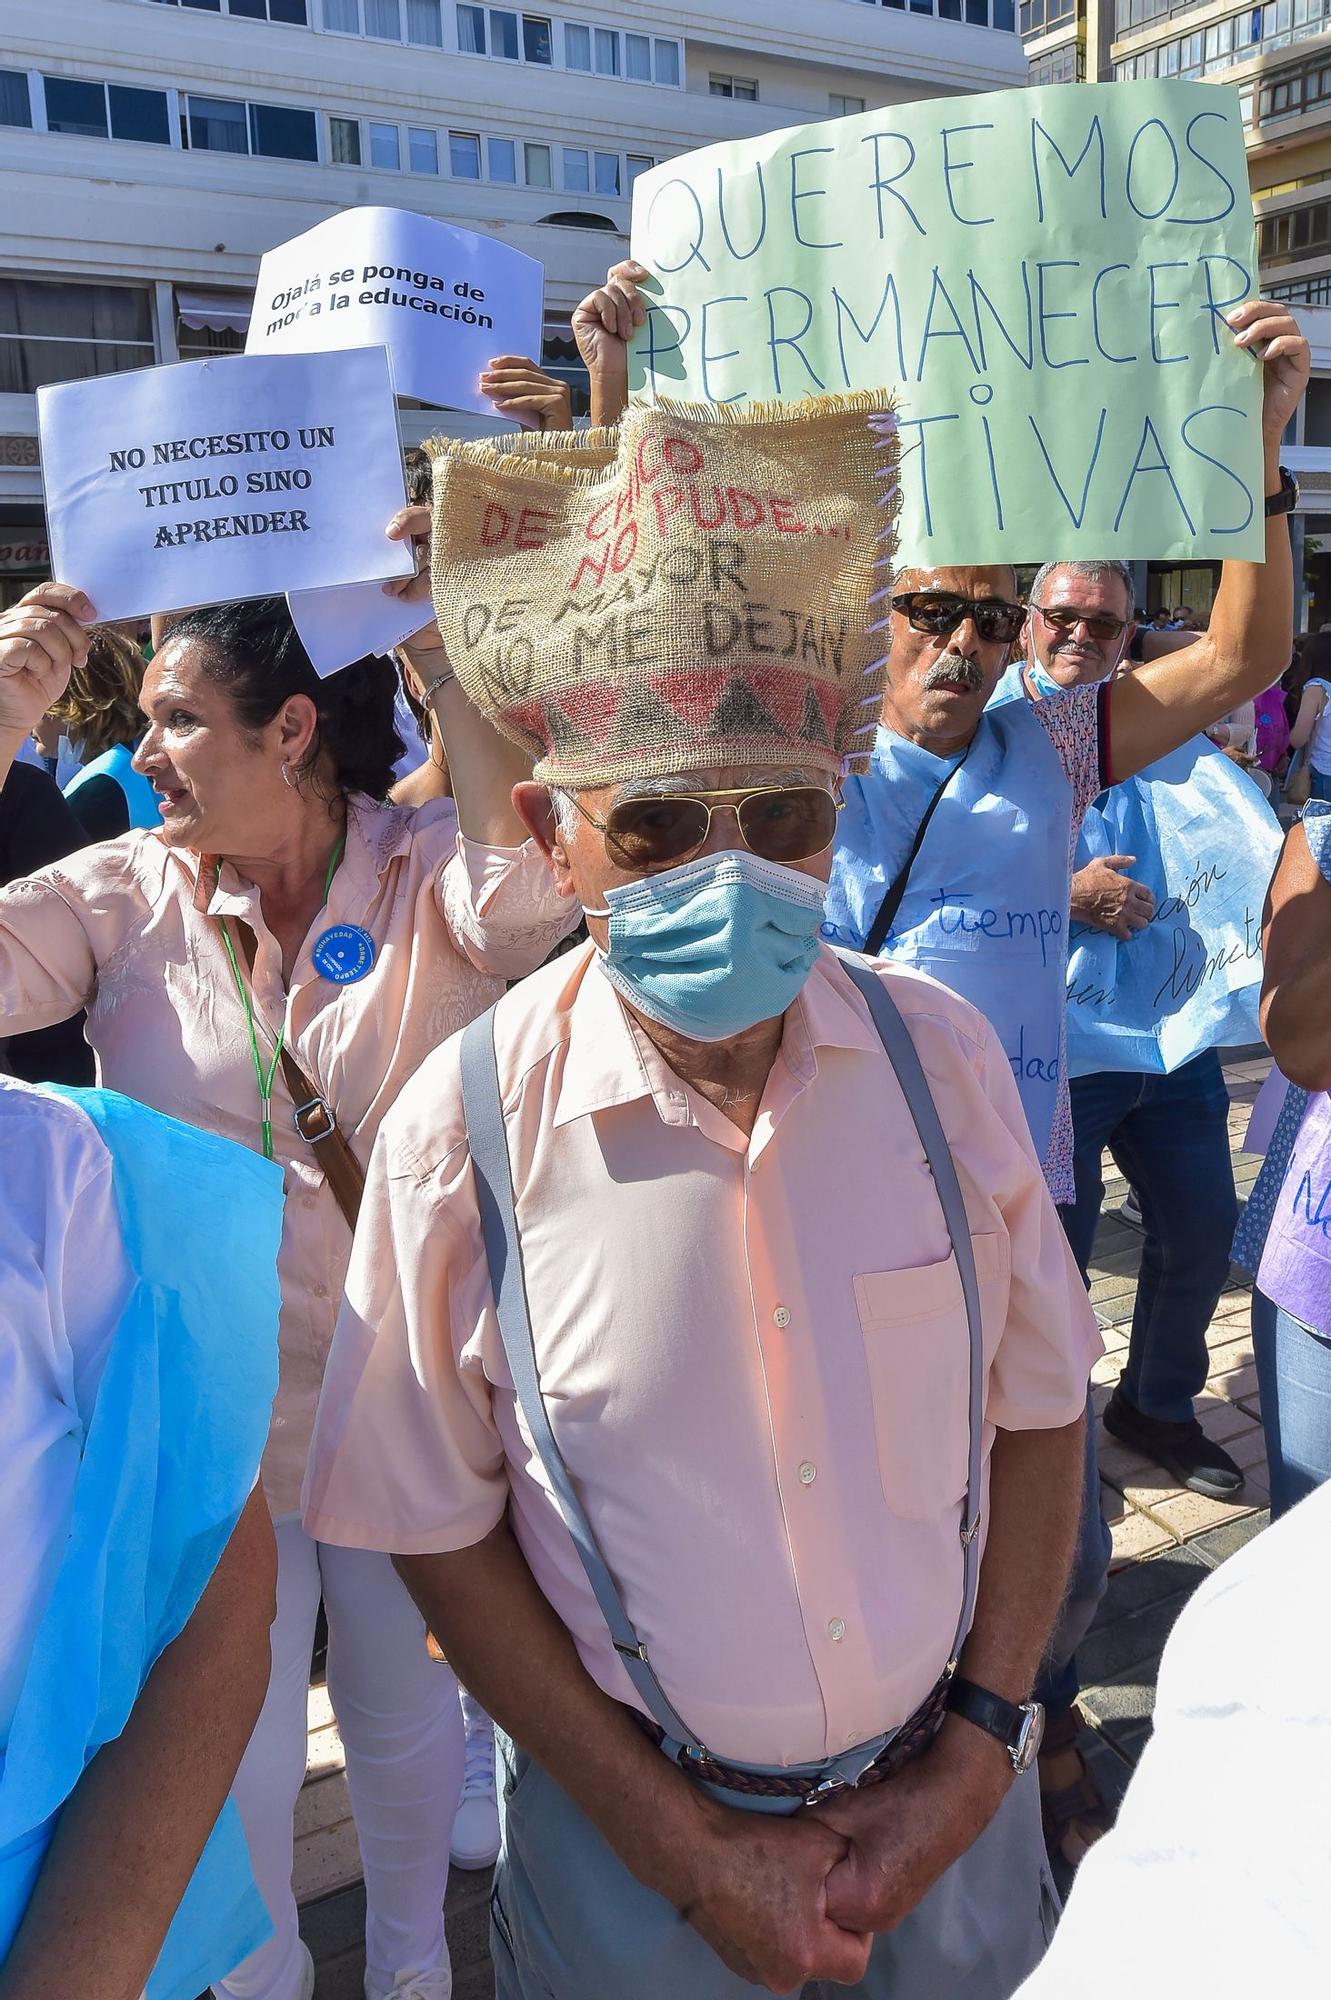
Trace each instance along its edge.
{"label": "light blue plastic apron on the mustached man in dark sunglasses", "polygon": [[[1019,690],[1017,690],[1019,692]],[[947,760],[877,730],[845,780],[823,938],[859,950]],[[929,822],[881,956],[987,1014],[1043,1160],[1063,1080],[1071,786],[1025,700],[985,708]]]}

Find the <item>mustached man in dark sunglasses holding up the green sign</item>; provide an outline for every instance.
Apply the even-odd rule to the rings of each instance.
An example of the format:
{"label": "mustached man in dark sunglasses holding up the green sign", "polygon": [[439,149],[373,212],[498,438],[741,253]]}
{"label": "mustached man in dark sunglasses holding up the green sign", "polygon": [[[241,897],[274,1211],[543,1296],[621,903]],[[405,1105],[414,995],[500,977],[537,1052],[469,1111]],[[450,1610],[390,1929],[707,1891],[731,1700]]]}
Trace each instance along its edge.
{"label": "mustached man in dark sunglasses holding up the green sign", "polygon": [[[1045,674],[1053,694],[995,706],[989,698],[1025,630],[1013,570],[899,570],[883,620],[887,692],[869,770],[845,780],[823,936],[917,966],[989,1016],[1059,1204],[1075,1200],[1065,984],[1081,820],[1099,792],[1251,700],[1289,658],[1293,482],[1279,442],[1307,384],[1309,350],[1293,316],[1265,300],[1235,308],[1229,326],[1265,374],[1265,564],[1227,562],[1209,630],[1119,680],[1105,678],[1131,640],[1133,606],[1119,580],[1087,580],[1091,594],[1075,604],[1059,590],[1043,594],[1031,628],[1045,658],[1029,672]],[[1095,630],[1069,616],[1075,610],[1089,612]],[[1141,898],[1121,898],[1117,916],[1141,918]],[[1051,1858],[1069,1868],[1105,1824],[1075,1752],[1073,1702],[1075,1648],[1103,1594],[1107,1554],[1087,1424],[1077,1560],[1037,1686],[1049,1716],[1045,1832]]]}

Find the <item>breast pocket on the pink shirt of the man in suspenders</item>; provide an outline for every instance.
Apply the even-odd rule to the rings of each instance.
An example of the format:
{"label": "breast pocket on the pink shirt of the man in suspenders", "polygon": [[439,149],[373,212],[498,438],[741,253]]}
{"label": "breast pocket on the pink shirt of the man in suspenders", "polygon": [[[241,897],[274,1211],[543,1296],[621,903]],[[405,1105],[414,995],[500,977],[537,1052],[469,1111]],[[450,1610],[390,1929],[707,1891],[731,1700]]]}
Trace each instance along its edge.
{"label": "breast pocket on the pink shirt of the man in suspenders", "polygon": [[[985,1360],[1007,1318],[1007,1238],[971,1236]],[[883,1498],[903,1520],[935,1520],[965,1492],[969,1336],[953,1256],[855,1278]]]}

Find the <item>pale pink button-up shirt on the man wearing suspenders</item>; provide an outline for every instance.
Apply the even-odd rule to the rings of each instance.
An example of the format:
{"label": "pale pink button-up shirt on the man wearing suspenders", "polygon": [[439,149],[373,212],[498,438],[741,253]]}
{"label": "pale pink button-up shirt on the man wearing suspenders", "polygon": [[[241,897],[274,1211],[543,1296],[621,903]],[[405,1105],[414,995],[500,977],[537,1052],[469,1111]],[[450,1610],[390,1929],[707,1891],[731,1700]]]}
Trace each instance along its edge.
{"label": "pale pink button-up shirt on the man wearing suspenders", "polygon": [[[875,964],[951,1142],[993,1426],[1071,1424],[1095,1318],[1011,1070],[967,1002]],[[636,1028],[592,948],[498,1012],[542,1386],[638,1636],[719,1756],[815,1762],[901,1722],[961,1608],[967,1328],[893,1068],[831,952],[785,1014],[751,1138]],[[310,1454],[306,1526],[466,1548],[512,1504],[592,1678],[632,1684],[516,1406],[460,1044],[390,1112]]]}

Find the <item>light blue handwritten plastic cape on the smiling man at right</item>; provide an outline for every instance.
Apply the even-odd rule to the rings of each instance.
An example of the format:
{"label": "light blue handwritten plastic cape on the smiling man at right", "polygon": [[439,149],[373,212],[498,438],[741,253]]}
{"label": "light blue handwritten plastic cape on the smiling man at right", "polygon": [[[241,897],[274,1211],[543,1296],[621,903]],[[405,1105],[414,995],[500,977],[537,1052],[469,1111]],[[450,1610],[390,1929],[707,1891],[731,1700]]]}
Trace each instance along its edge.
{"label": "light blue handwritten plastic cape on the smiling man at right", "polygon": [[1067,1068],[1169,1074],[1205,1048],[1261,1040],[1261,906],[1281,828],[1257,786],[1195,736],[1101,792],[1077,868],[1135,854],[1155,918],[1127,944],[1073,924]]}

